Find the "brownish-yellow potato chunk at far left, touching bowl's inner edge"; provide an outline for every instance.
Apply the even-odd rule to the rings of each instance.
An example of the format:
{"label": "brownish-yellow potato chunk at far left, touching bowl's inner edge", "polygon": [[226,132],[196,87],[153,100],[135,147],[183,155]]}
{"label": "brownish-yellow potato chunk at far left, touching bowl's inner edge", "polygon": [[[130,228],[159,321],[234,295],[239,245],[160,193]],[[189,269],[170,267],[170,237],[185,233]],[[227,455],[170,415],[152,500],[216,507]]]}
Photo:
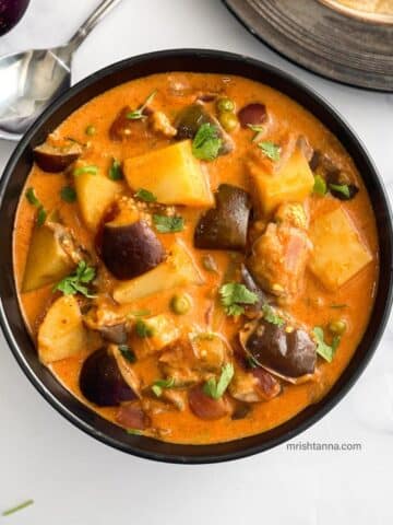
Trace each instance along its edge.
{"label": "brownish-yellow potato chunk at far left, touching bowl's inner edge", "polygon": [[48,224],[36,226],[27,255],[22,292],[29,292],[66,277],[74,268],[59,236]]}

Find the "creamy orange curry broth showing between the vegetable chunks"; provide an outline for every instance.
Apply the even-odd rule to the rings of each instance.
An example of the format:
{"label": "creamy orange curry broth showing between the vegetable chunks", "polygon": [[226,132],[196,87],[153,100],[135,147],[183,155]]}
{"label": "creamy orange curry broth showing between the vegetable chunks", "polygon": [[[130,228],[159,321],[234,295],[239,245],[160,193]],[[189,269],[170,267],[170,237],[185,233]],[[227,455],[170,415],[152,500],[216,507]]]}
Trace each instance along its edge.
{"label": "creamy orange curry broth showing between the vegetable chunks", "polygon": [[[168,92],[169,83],[187,85],[183,96],[171,96]],[[241,439],[274,428],[294,417],[308,405],[318,401],[329,392],[348,364],[366,329],[373,305],[378,280],[378,241],[374,217],[364,183],[352,159],[335,137],[310,113],[287,96],[247,79],[223,78],[217,74],[170,73],[134,80],[97,96],[79,108],[59,126],[56,135],[86,142],[84,131],[88,125],[94,124],[97,132],[92,139],[87,138],[92,145],[85,159],[88,163],[97,165],[104,173],[107,172],[112,158],[123,161],[152,148],[163,148],[170,143],[169,139],[155,137],[150,141],[114,142],[108,136],[108,128],[119,110],[124,105],[138,107],[141,101],[145,100],[154,90],[157,90],[154,104],[169,118],[174,118],[184,104],[192,102],[194,90],[201,92],[224,91],[226,96],[236,101],[238,108],[254,101],[262,101],[273,117],[271,136],[281,137],[289,131],[306,136],[314,149],[326,153],[340,167],[348,172],[360,189],[355,199],[345,202],[330,197],[322,199],[312,196],[309,199],[310,213],[312,218],[315,218],[336,207],[345,208],[373,255],[372,262],[336,292],[326,291],[319,280],[307,270],[302,293],[286,307],[290,315],[310,328],[315,325],[325,325],[337,317],[345,318],[347,330],[333,362],[327,363],[320,359],[313,381],[296,386],[283,383],[281,395],[266,402],[253,404],[252,411],[245,419],[231,420],[230,417],[225,417],[215,421],[206,421],[195,417],[187,407],[184,411],[162,411],[155,415],[153,420],[154,427],[164,429],[159,439],[174,443],[204,444]],[[250,133],[243,129],[237,129],[231,137],[235,141],[234,152],[219,156],[207,165],[213,190],[223,182],[250,190],[242,161],[246,152],[250,149]],[[35,164],[26,182],[26,187],[35,188],[46,209],[59,210],[62,220],[72,229],[75,237],[87,249],[93,249],[94,235],[84,226],[79,215],[78,203],[67,203],[60,198],[60,189],[68,184],[67,180],[64,174],[45,173]],[[34,207],[22,198],[14,231],[14,270],[17,289],[21,289],[35,213]],[[114,306],[115,308],[119,312],[127,312],[148,307],[152,315],[165,312],[176,323],[190,323],[202,327],[206,325],[206,311],[212,304],[212,296],[214,298],[214,293],[221,284],[229,257],[225,253],[214,253],[218,266],[217,273],[209,272],[202,267],[201,255],[204,250],[196,250],[192,243],[194,226],[200,213],[201,210],[181,209],[181,214],[186,218],[186,230],[176,234],[158,234],[165,247],[168,247],[175,238],[180,238],[186,243],[205,279],[203,285],[193,285],[188,289],[193,300],[190,313],[181,318],[170,313],[168,303],[172,291],[164,292],[158,296],[150,296],[133,304]],[[33,338],[36,338],[38,326],[52,301],[52,285],[20,294],[21,306]],[[346,306],[333,307],[342,304]],[[239,327],[239,322],[225,319],[224,315],[219,329],[230,340]],[[104,418],[116,422],[117,408],[98,408],[88,404],[80,392],[79,374],[85,358],[84,354],[64,359],[52,363],[50,369],[56,377],[84,404],[90,405]],[[159,376],[154,358],[138,362],[135,368],[146,384]]]}

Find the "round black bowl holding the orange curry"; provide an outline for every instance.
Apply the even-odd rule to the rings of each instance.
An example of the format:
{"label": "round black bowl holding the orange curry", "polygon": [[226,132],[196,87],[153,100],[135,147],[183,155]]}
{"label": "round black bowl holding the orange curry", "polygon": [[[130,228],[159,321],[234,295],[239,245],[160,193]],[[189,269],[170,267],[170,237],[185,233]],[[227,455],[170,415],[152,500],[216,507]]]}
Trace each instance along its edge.
{"label": "round black bowl holding the orange curry", "polygon": [[[166,71],[238,74],[285,93],[319,118],[343,143],[361,173],[378,223],[380,281],[367,330],[350,363],[332,390],[286,423],[259,435],[215,445],[172,445],[129,435],[82,405],[39,363],[25,328],[13,279],[12,232],[21,189],[32,166],[32,149],[66,117],[92,97],[139,77]],[[381,338],[392,302],[392,218],[376,168],[359,139],[332,107],[295,78],[258,60],[201,49],[151,52],[130,58],[92,74],[60,96],[36,120],[12,154],[0,186],[0,322],[10,348],[37,390],[76,427],[121,451],[162,462],[215,463],[250,456],[293,439],[329,412],[365,370]]]}

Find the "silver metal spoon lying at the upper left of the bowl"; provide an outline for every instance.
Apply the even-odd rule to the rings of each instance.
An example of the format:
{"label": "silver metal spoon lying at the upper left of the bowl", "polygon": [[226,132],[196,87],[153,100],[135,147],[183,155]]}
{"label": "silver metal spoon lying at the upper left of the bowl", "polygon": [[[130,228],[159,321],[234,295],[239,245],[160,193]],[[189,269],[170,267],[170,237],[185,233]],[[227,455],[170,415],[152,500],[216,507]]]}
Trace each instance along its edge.
{"label": "silver metal spoon lying at the upper left of the bowl", "polygon": [[50,102],[71,85],[73,52],[121,0],[104,0],[68,44],[0,58],[0,139],[19,140]]}

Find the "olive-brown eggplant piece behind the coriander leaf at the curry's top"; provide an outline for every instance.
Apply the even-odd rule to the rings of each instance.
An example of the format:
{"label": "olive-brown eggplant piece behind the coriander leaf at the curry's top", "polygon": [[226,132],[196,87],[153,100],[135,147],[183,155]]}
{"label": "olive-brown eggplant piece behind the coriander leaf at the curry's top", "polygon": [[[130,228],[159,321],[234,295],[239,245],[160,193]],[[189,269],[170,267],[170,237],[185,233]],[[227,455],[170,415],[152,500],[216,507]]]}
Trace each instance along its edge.
{"label": "olive-brown eggplant piece behind the coriander leaf at the curry's top", "polygon": [[202,124],[211,124],[217,129],[217,136],[223,141],[223,145],[218,151],[219,155],[225,155],[233,151],[234,143],[230,137],[224,131],[218,120],[213,115],[210,115],[202,104],[198,103],[184,107],[177,116],[175,121],[175,128],[177,129],[176,139],[193,139]]}

